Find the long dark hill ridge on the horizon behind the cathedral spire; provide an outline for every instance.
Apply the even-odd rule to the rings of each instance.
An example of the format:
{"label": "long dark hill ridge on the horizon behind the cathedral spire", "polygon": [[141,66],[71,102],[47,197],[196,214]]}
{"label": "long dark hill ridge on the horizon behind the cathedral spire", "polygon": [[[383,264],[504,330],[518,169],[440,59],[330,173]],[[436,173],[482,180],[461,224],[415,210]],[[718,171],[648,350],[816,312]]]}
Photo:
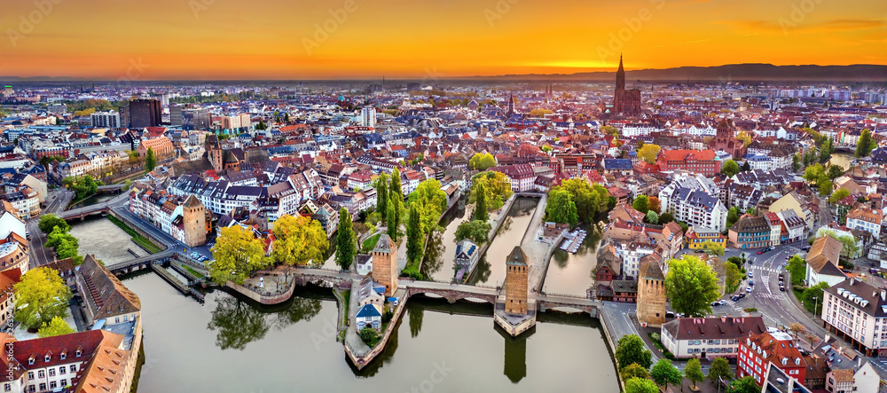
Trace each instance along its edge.
{"label": "long dark hill ridge on the horizon behind the cathedral spire", "polygon": [[[468,78],[466,78],[468,79]],[[528,74],[475,76],[470,79],[486,80],[546,80],[590,81],[616,80],[613,72],[576,74]],[[677,67],[641,69],[625,72],[626,81],[706,81],[706,82],[772,82],[772,81],[829,81],[829,82],[882,82],[887,83],[887,66],[854,64],[852,66],[773,66],[772,64],[728,64],[717,67]]]}

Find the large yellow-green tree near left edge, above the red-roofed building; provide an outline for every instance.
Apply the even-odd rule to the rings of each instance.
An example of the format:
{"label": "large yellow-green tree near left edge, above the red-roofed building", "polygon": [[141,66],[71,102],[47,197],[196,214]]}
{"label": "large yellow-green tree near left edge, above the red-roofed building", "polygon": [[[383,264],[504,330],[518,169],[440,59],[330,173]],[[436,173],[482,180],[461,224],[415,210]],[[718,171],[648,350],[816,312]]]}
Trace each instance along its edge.
{"label": "large yellow-green tree near left edge, above the red-roofed building", "polygon": [[67,316],[71,290],[59,276],[59,271],[48,267],[31,269],[15,285],[15,320],[29,329],[49,324],[52,318]]}

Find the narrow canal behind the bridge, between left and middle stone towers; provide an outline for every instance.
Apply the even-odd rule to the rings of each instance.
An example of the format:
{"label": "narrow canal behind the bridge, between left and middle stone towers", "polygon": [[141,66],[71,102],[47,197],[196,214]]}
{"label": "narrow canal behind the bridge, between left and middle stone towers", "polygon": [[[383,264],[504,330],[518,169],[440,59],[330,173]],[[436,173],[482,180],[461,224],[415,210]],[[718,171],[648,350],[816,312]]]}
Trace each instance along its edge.
{"label": "narrow canal behind the bridge, between left and middle stone towers", "polygon": [[[505,260],[516,246],[521,245],[523,234],[530,226],[530,220],[539,200],[535,198],[517,198],[508,210],[505,222],[499,227],[496,237],[481,255],[475,273],[468,278],[471,285],[484,284],[491,287],[500,286],[505,281]],[[492,218],[492,217],[491,217]]]}

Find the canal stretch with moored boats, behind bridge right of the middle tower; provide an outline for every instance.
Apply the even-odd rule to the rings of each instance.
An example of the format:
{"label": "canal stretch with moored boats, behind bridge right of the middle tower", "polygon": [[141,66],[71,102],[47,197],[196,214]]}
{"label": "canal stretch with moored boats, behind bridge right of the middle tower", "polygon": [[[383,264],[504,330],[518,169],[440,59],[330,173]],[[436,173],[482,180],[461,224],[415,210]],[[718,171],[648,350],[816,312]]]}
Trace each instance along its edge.
{"label": "canal stretch with moored boats, behind bridge right of the middle tower", "polygon": [[593,269],[598,265],[598,248],[604,224],[583,224],[579,227],[588,232],[576,254],[561,248],[554,250],[548,264],[548,274],[543,291],[550,294],[585,296],[585,290],[594,285]]}

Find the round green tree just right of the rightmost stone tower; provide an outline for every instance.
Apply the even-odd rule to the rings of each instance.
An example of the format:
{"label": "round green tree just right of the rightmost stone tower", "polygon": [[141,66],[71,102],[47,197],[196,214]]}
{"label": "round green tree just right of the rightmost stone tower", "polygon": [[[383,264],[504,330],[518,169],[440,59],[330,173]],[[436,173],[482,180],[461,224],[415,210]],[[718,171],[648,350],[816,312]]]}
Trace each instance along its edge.
{"label": "round green tree just right of the rightmost stone tower", "polygon": [[702,317],[711,313],[710,303],[718,300],[721,288],[709,265],[694,255],[683,255],[669,263],[665,294],[673,310],[687,317]]}

